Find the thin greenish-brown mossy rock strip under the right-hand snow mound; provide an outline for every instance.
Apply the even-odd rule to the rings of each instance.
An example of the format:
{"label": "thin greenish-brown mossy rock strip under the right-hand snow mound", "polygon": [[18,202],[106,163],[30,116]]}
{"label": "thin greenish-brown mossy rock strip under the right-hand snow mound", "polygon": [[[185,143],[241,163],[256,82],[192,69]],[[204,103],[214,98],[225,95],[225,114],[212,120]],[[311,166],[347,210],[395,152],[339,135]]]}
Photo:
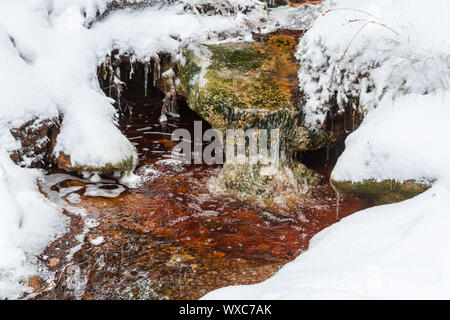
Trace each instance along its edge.
{"label": "thin greenish-brown mossy rock strip under the right-hand snow mound", "polygon": [[368,179],[362,182],[336,181],[330,179],[336,192],[373,201],[375,204],[400,202],[415,197],[428,190],[430,183],[416,180],[396,181],[393,179],[376,181]]}

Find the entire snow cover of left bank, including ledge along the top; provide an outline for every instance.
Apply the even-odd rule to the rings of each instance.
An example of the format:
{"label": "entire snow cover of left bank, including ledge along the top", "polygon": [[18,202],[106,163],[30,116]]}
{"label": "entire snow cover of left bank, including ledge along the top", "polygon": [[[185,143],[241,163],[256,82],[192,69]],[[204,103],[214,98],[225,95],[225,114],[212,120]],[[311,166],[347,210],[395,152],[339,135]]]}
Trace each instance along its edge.
{"label": "entire snow cover of left bank, including ledge along the top", "polygon": [[135,148],[116,127],[113,101],[98,84],[97,66],[106,55],[117,49],[149,61],[158,52],[176,56],[191,41],[217,41],[219,33],[239,31],[250,39],[250,30],[264,28],[263,18],[273,27],[256,0],[227,1],[216,15],[194,7],[204,0],[147,0],[151,5],[144,9],[112,12],[97,21],[112,2],[0,0],[0,299],[21,296],[27,277],[43,275],[35,256],[66,227],[58,208],[38,192],[42,173],[10,160],[8,151],[20,147],[11,128],[61,115],[55,154],[94,167],[136,159]]}

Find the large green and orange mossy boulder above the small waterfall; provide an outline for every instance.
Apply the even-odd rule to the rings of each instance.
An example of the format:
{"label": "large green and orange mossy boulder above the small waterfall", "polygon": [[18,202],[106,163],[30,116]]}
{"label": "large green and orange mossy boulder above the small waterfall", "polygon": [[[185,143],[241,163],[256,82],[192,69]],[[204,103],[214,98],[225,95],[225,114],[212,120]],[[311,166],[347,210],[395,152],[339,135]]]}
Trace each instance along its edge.
{"label": "large green and orange mossy boulder above the small waterfall", "polygon": [[327,135],[298,125],[298,38],[277,32],[262,41],[191,47],[178,65],[179,92],[214,129],[280,129],[288,150],[326,146]]}

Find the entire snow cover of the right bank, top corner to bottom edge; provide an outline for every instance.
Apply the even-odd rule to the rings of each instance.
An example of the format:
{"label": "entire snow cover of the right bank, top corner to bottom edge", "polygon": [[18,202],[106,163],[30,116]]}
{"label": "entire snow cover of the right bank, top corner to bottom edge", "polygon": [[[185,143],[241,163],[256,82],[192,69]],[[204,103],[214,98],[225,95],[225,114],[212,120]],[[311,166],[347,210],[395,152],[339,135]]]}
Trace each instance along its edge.
{"label": "entire snow cover of the right bank, top corner to bottom edge", "polygon": [[327,1],[298,51],[311,126],[335,91],[342,108],[356,97],[367,113],[332,178],[425,179],[432,188],[355,213],[267,281],[206,299],[450,298],[448,12],[446,0]]}

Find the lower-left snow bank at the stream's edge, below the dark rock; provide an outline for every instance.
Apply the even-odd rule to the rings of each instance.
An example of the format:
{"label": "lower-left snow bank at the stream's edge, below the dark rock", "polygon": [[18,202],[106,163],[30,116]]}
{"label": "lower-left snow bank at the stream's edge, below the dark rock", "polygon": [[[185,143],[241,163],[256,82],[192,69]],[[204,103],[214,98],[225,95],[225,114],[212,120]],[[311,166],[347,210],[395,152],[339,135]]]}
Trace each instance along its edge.
{"label": "lower-left snow bank at the stream's edge, below the dark rock", "polygon": [[66,225],[63,215],[38,191],[37,170],[16,166],[6,153],[15,144],[0,130],[0,299],[27,291],[27,278],[40,273],[35,256]]}

